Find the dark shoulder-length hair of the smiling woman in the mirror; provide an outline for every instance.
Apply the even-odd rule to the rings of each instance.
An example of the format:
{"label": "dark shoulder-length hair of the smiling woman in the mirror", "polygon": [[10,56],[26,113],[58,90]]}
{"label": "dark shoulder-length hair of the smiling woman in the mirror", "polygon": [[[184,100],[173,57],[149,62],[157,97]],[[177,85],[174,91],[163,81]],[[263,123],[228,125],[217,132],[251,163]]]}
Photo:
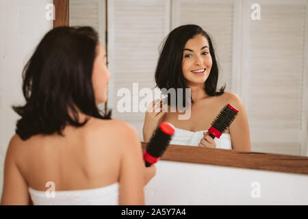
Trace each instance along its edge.
{"label": "dark shoulder-length hair of the smiling woman in the mirror", "polygon": [[[201,34],[209,42],[209,53],[212,59],[211,72],[205,81],[205,92],[209,96],[219,96],[224,93],[225,85],[217,91],[218,83],[218,62],[216,61],[215,51],[211,38],[206,31],[198,25],[182,25],[173,29],[162,42],[163,47],[159,51],[159,60],[155,70],[155,82],[159,89],[183,88],[183,103],[187,101],[185,88],[188,88],[186,79],[183,75],[183,49],[185,44],[194,36]],[[164,94],[164,92],[162,92]],[[191,103],[194,103],[190,99]],[[170,94],[168,94],[168,105],[170,105]]]}

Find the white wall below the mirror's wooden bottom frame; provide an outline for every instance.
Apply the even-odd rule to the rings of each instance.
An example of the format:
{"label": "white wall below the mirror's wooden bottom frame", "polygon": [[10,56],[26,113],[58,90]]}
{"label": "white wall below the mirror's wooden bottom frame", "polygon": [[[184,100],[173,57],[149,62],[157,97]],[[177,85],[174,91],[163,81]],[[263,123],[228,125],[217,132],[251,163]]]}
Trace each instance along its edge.
{"label": "white wall below the mirror's wooden bottom frame", "polygon": [[[308,175],[159,161],[146,205],[308,205]],[[260,198],[255,196],[259,183]]]}

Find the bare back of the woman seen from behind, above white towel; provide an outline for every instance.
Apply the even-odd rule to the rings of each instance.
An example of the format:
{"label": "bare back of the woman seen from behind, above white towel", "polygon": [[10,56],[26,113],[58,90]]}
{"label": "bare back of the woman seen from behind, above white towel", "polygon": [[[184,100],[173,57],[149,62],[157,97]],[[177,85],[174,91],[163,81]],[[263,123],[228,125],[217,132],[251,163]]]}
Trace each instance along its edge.
{"label": "bare back of the woman seen from behind, above white towel", "polygon": [[17,166],[29,187],[47,190],[84,190],[116,183],[121,149],[118,121],[90,118],[84,127],[65,127],[64,137],[36,135],[20,143]]}

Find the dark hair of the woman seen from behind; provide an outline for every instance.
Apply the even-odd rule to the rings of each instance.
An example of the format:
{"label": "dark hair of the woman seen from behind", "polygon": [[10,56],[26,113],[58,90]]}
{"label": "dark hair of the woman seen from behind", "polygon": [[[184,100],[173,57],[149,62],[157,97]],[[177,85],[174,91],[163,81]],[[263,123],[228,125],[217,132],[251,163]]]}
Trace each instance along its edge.
{"label": "dark hair of the woman seen from behind", "polygon": [[78,110],[94,118],[111,118],[111,111],[100,112],[94,99],[92,68],[98,42],[92,27],[56,27],[42,38],[23,68],[26,103],[12,106],[21,116],[16,134],[22,140],[38,133],[63,136],[66,125],[85,125],[88,119],[79,123]]}

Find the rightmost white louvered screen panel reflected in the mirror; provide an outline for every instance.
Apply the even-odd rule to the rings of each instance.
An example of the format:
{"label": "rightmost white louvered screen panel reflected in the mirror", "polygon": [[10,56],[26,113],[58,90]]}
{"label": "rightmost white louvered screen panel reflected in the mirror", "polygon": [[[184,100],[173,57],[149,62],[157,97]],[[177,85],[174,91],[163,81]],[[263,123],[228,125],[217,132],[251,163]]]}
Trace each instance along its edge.
{"label": "rightmost white louvered screen panel reflected in the mirror", "polygon": [[[245,1],[244,8],[251,11],[253,3]],[[258,3],[259,21],[243,16],[242,98],[252,151],[306,155],[307,1]]]}

